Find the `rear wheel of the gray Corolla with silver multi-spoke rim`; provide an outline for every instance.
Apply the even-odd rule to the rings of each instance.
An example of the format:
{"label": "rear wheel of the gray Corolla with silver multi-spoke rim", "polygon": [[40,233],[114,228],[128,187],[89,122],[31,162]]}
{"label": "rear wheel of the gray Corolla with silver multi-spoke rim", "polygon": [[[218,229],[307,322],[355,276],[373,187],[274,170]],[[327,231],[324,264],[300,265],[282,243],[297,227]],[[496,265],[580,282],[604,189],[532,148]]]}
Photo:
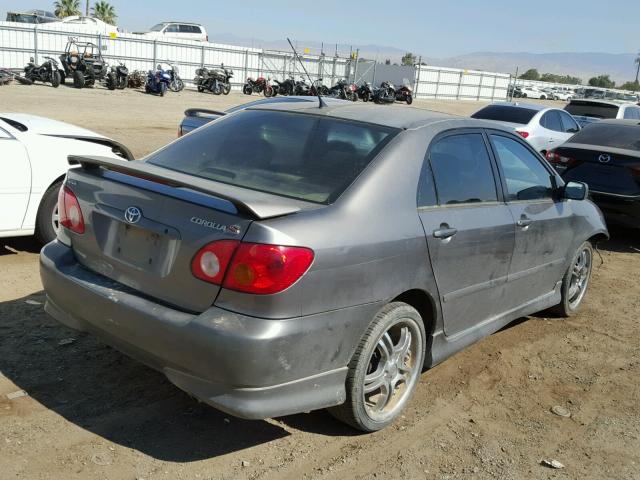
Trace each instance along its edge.
{"label": "rear wheel of the gray Corolla with silver multi-spoke rim", "polygon": [[426,333],[418,311],[402,302],[374,317],[349,363],[345,403],[329,412],[364,432],[381,430],[403,411],[424,364]]}

